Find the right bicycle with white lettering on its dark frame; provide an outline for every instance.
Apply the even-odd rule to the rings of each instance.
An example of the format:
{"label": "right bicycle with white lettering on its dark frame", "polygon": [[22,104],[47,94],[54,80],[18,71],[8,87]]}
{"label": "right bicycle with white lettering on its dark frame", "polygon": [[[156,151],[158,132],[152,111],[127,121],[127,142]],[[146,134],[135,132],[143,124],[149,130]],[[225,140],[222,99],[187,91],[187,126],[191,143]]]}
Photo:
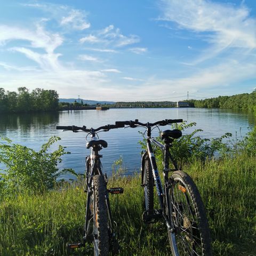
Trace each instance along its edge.
{"label": "right bicycle with white lettering on its dark frame", "polygon": [[[141,156],[141,186],[144,188],[145,197],[143,221],[151,223],[164,219],[173,256],[211,256],[210,229],[202,198],[191,177],[178,167],[172,150],[172,142],[180,138],[182,132],[178,129],[163,131],[161,139],[164,143],[151,138],[153,126],[181,122],[182,119],[165,119],[155,123],[140,123],[135,119],[135,121],[116,122],[116,125],[146,127],[147,150]],[[164,187],[158,173],[152,144],[163,151]],[[172,169],[170,163],[173,165]],[[171,173],[170,177],[169,173]],[[154,209],[154,186],[160,205],[159,210]]]}

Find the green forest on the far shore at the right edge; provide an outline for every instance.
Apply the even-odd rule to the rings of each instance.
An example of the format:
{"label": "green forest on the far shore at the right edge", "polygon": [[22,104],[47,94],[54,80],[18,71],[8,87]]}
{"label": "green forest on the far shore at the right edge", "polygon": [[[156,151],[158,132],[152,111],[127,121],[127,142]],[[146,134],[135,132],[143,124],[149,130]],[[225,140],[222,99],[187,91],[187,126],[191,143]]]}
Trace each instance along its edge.
{"label": "green forest on the far shore at the right edge", "polygon": [[243,93],[233,96],[219,96],[218,98],[204,100],[189,100],[191,106],[196,108],[228,108],[244,109],[256,112],[256,90],[252,93]]}

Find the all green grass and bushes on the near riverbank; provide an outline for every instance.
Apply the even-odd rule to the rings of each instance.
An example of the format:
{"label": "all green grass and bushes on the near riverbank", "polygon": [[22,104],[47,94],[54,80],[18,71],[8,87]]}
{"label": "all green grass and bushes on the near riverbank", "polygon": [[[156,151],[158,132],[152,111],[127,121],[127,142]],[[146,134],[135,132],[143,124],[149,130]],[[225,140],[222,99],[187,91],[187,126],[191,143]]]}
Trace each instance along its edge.
{"label": "all green grass and bushes on the near riverbank", "polygon": [[[194,125],[184,123],[179,129]],[[231,139],[231,134],[202,139],[199,131],[183,135],[174,148],[202,195],[214,255],[255,255],[256,128],[239,141]],[[6,165],[0,181],[1,255],[93,254],[91,244],[72,252],[66,249],[67,242],[77,242],[77,237],[82,241],[86,195],[83,177],[57,181],[61,174],[57,164],[67,152],[61,146],[52,153],[48,149],[58,139],[51,138],[38,152],[10,140],[0,143],[0,162]],[[156,152],[158,161],[160,154]],[[148,226],[142,222],[139,174],[125,177],[124,171],[122,158],[118,159],[109,181],[110,186],[114,183],[125,191],[110,197],[120,255],[170,255],[164,223]]]}

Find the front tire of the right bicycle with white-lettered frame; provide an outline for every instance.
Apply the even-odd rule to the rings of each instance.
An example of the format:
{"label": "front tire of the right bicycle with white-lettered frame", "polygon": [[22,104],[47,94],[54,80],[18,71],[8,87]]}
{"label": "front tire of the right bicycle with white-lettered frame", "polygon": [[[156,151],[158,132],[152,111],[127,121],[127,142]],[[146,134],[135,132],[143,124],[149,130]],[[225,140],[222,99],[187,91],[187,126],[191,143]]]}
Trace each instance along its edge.
{"label": "front tire of the right bicycle with white-lettered frame", "polygon": [[154,211],[154,177],[148,155],[143,166],[144,206],[148,214]]}

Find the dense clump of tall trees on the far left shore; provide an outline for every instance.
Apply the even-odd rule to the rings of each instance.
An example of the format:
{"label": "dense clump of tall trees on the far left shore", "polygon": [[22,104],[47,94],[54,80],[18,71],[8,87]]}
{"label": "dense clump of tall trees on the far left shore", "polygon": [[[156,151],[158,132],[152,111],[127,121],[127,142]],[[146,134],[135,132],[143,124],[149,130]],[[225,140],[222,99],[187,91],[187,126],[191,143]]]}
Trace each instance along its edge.
{"label": "dense clump of tall trees on the far left shore", "polygon": [[59,108],[59,94],[54,90],[37,88],[32,92],[19,87],[18,92],[0,88],[0,113],[55,111]]}

